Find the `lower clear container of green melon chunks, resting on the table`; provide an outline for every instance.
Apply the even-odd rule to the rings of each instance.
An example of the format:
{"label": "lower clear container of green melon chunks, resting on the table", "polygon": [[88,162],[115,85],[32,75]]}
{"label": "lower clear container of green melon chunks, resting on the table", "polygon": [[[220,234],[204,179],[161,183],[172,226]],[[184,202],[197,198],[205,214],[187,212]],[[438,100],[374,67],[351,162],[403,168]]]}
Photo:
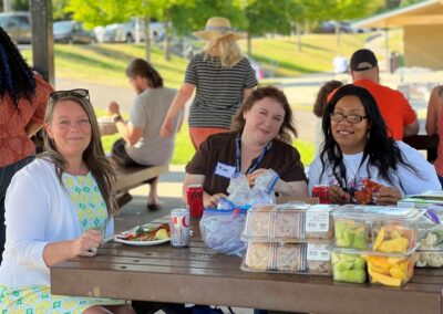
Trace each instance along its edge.
{"label": "lower clear container of green melon chunks, resting on the table", "polygon": [[331,255],[332,276],[334,281],[364,283],[367,281],[367,262],[356,250],[340,251],[333,249]]}

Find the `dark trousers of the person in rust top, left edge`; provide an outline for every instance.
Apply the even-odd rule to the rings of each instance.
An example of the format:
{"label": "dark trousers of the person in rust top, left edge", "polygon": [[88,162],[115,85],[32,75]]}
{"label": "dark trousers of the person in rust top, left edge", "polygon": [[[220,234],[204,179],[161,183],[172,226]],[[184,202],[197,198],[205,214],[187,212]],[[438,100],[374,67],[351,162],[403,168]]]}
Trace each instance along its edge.
{"label": "dark trousers of the person in rust top, left edge", "polygon": [[7,238],[7,228],[4,226],[4,198],[7,196],[7,189],[12,180],[13,175],[21,168],[27,166],[29,163],[34,160],[35,156],[29,156],[24,159],[17,161],[16,164],[0,168],[0,263],[2,261],[4,241]]}

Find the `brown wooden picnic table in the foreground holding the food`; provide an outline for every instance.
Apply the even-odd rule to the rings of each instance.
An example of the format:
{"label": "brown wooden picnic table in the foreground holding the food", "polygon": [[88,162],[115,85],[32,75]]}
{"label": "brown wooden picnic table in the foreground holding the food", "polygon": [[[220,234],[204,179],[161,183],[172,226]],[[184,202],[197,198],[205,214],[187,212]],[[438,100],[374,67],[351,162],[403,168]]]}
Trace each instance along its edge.
{"label": "brown wooden picnic table in the foreground holding the food", "polygon": [[[155,223],[168,222],[167,217]],[[202,242],[189,248],[105,243],[94,258],[51,268],[54,294],[231,305],[315,313],[443,313],[443,270],[415,269],[403,287],[333,282],[329,276],[243,272],[241,259]]]}

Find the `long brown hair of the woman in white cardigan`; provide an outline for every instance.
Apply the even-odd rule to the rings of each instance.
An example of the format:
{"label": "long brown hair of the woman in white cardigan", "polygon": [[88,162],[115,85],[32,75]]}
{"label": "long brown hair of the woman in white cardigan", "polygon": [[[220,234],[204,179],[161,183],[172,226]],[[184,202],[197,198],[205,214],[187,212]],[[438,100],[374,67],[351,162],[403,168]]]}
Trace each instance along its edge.
{"label": "long brown hair of the woman in white cardigan", "polygon": [[[100,192],[102,193],[104,202],[106,203],[109,214],[115,216],[119,208],[111,192],[112,185],[116,180],[115,168],[104,154],[100,137],[99,123],[90,101],[85,97],[75,95],[66,95],[56,100],[50,98],[44,116],[44,125],[52,122],[55,107],[63,101],[75,102],[85,111],[89,117],[91,124],[91,142],[87,148],[83,151],[83,161],[91,170],[92,176],[99,186]],[[45,151],[40,154],[39,158],[49,157],[51,161],[54,163],[56,175],[60,182],[63,185],[62,175],[68,167],[66,160],[56,149],[55,143],[49,137],[48,132],[43,133],[43,140]]]}

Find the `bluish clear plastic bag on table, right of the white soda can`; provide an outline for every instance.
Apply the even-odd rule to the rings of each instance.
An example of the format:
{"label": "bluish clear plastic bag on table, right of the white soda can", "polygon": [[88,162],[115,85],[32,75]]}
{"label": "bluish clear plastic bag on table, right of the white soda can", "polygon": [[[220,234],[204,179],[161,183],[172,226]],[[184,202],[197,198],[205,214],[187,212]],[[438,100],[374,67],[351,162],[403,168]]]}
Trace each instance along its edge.
{"label": "bluish clear plastic bag on table, right of the white soda can", "polygon": [[241,241],[241,232],[246,211],[206,209],[200,219],[202,239],[206,245],[228,255],[245,255],[246,243]]}

